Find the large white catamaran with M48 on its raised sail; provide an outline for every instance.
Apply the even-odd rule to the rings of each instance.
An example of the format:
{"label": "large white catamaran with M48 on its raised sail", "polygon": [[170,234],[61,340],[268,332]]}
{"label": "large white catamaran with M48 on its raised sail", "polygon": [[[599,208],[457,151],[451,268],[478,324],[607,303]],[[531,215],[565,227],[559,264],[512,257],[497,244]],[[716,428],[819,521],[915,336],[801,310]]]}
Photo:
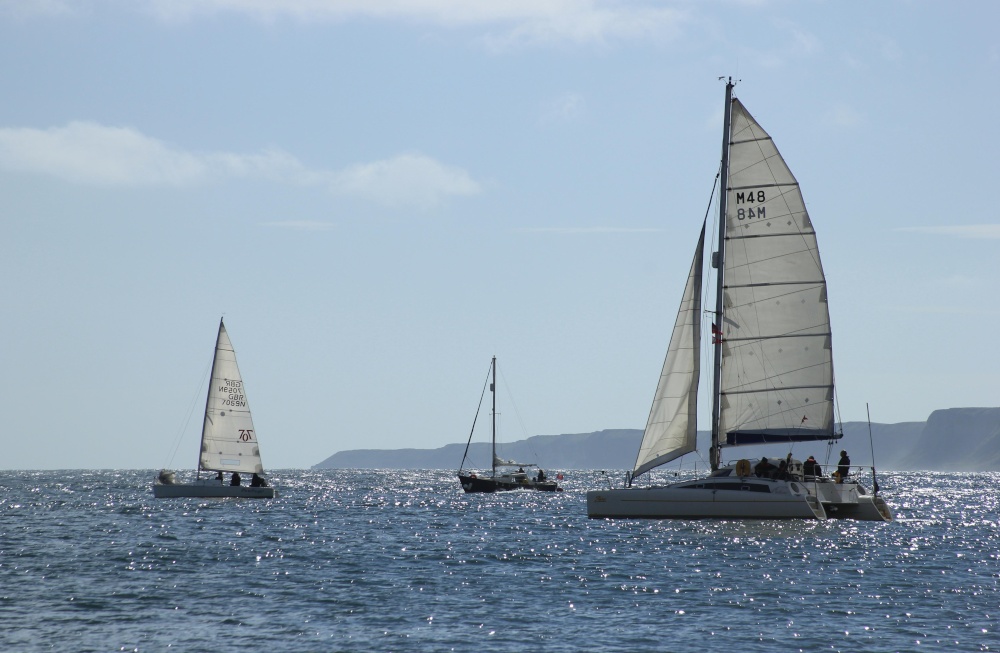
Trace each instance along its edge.
{"label": "large white catamaran with M48 on its raised sail", "polygon": [[[722,462],[726,447],[828,441],[834,421],[826,278],[799,184],[726,84],[712,324],[711,472],[666,486],[637,477],[696,450],[705,225],[688,273],[635,467],[626,487],[587,492],[591,518],[892,520],[857,468],[823,476],[791,453]],[[764,463],[764,464],[762,464]],[[758,475],[759,474],[759,475]],[[874,480],[874,467],[872,467]]]}

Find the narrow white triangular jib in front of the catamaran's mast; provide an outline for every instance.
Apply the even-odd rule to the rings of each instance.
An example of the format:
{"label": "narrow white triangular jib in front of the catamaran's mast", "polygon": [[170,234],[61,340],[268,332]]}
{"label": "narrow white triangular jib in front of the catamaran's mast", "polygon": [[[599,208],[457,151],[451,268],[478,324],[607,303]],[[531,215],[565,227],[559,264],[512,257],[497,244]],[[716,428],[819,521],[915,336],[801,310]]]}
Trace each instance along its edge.
{"label": "narrow white triangular jib in front of the catamaran's mast", "polygon": [[638,476],[696,448],[698,379],[701,373],[701,279],[705,226],[688,273],[667,357],[653,396],[632,476]]}

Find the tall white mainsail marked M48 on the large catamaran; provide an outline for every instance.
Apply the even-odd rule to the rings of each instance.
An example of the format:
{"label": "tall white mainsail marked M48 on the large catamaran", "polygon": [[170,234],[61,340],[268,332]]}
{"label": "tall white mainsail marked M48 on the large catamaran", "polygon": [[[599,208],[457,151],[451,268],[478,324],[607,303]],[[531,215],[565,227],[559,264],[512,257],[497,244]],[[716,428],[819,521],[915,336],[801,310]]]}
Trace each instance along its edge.
{"label": "tall white mainsail marked M48 on the large catamaran", "polygon": [[726,211],[722,444],[833,435],[826,278],[799,184],[732,102]]}

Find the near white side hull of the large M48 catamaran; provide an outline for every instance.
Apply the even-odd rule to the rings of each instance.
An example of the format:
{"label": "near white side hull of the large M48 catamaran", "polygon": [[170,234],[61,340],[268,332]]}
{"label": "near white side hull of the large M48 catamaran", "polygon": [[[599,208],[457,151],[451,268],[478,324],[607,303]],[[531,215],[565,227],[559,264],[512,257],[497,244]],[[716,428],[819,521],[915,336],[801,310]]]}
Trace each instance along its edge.
{"label": "near white side hull of the large M48 catamaran", "polygon": [[808,494],[763,494],[739,490],[675,487],[591,490],[591,519],[826,519]]}

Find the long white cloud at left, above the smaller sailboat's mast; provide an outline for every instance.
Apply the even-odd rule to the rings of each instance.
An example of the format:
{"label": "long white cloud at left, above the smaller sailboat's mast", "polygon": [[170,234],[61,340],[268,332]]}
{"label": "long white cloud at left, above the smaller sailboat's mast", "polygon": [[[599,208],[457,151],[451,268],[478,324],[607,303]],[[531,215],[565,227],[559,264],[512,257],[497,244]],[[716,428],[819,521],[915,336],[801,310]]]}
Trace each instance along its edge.
{"label": "long white cloud at left, above the smaller sailboat's mast", "polygon": [[480,185],[461,168],[420,154],[312,170],[280,150],[187,152],[129,127],[72,122],[51,129],[0,129],[0,168],[97,186],[184,187],[221,179],[321,186],[389,206],[429,207]]}

